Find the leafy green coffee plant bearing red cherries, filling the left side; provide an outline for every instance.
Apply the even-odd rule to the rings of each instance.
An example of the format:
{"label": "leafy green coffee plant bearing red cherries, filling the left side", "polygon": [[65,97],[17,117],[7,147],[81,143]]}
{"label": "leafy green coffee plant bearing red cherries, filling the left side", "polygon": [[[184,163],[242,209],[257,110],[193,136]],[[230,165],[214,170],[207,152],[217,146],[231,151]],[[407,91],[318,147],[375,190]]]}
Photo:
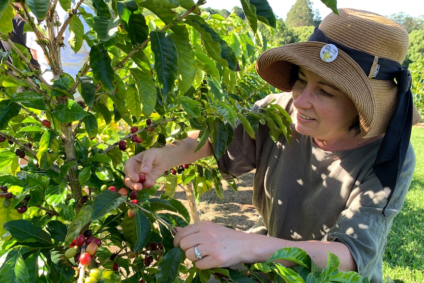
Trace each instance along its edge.
{"label": "leafy green coffee plant bearing red cherries, filling the left side", "polygon": [[[248,25],[235,14],[201,12],[204,2],[0,0],[0,37],[10,46],[0,51],[3,282],[171,283],[181,275],[206,282],[212,274],[221,281],[263,281],[259,271],[312,282],[290,279],[296,271],[273,262],[284,257],[298,258],[303,275],[319,273],[299,250],[279,251],[245,271],[200,271],[185,263],[172,241],[174,227],[187,225],[190,216],[172,196],[178,184],[189,183],[197,199],[212,188],[222,196],[213,158],[164,172],[164,193],[124,186],[128,157],[189,130],[201,131],[199,147],[210,138],[216,157],[238,121],[252,137],[259,123],[274,140],[290,137],[281,107],[251,110],[276,92],[254,68],[268,48],[258,21],[275,27],[268,2],[241,0]],[[65,20],[55,16],[58,7]],[[30,63],[32,51],[13,41],[15,16],[25,21],[24,32],[35,33],[43,51],[37,57],[47,59],[52,80]],[[90,54],[73,77],[63,72],[61,50],[77,53],[83,43]],[[331,254],[330,261],[322,278],[337,276]]]}

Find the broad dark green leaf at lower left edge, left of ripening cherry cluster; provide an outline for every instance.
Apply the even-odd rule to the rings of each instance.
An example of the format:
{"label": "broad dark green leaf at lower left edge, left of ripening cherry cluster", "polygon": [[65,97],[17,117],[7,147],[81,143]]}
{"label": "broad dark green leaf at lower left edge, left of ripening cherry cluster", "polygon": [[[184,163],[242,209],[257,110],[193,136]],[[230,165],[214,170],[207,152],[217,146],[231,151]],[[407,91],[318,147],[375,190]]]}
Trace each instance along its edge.
{"label": "broad dark green leaf at lower left edge, left of ripening cherry cluster", "polygon": [[29,220],[11,220],[4,223],[3,227],[19,242],[38,242],[46,245],[52,244],[49,233],[35,226]]}

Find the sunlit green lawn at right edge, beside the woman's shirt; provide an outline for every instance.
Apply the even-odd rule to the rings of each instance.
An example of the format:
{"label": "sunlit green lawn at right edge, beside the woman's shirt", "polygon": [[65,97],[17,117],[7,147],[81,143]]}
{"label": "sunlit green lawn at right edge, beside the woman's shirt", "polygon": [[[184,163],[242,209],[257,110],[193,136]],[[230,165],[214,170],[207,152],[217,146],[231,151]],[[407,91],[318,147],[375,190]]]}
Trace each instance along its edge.
{"label": "sunlit green lawn at right edge, beside the woman's shirt", "polygon": [[383,256],[383,274],[405,283],[424,282],[424,128],[413,127],[417,159],[402,210],[394,219]]}

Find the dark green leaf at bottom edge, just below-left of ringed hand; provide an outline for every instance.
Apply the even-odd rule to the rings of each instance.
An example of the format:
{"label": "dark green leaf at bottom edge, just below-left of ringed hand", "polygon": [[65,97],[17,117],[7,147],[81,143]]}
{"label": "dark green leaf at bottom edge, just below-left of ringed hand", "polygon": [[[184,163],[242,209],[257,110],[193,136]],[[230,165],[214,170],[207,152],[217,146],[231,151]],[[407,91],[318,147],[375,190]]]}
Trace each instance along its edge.
{"label": "dark green leaf at bottom edge, just below-left of ringed hand", "polygon": [[184,252],[180,247],[174,248],[163,256],[163,260],[159,262],[156,273],[156,283],[172,283],[175,282],[180,266],[184,258]]}

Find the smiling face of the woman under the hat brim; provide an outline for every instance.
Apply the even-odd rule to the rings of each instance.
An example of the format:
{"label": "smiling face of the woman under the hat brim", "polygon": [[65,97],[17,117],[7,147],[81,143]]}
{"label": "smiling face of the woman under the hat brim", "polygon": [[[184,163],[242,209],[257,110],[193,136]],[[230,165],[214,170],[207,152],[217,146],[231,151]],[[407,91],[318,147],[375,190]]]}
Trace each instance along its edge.
{"label": "smiling face of the woman under the hat brim", "polygon": [[300,67],[293,100],[299,133],[325,143],[352,137],[347,128],[358,116],[356,107],[346,94],[322,77]]}

